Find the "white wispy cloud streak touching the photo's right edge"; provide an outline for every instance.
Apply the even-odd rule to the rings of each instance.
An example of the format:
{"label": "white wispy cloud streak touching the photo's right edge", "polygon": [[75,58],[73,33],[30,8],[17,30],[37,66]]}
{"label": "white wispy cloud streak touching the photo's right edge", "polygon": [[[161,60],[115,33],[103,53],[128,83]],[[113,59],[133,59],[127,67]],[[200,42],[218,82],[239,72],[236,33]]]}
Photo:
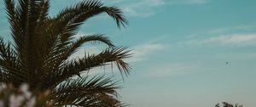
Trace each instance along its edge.
{"label": "white wispy cloud streak touching the photo's right edge", "polygon": [[205,39],[192,39],[187,42],[189,44],[205,45],[228,45],[228,46],[248,46],[256,45],[256,34],[233,34],[218,37],[210,37]]}

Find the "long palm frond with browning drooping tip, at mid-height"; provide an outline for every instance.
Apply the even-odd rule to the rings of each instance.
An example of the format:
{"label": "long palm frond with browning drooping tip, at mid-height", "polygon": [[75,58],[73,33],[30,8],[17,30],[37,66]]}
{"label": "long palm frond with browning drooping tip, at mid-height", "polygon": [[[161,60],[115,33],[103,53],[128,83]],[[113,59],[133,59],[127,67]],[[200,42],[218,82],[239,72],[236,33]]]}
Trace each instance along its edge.
{"label": "long palm frond with browning drooping tip, at mid-height", "polygon": [[45,76],[44,86],[53,87],[63,81],[66,81],[72,76],[80,76],[84,71],[89,71],[91,68],[108,65],[115,62],[118,65],[121,75],[129,75],[131,67],[129,64],[125,63],[123,59],[129,58],[131,56],[130,51],[126,51],[126,48],[108,48],[102,53],[85,55],[84,58],[73,59],[73,61],[68,62],[60,68],[61,70],[55,70],[49,75]]}

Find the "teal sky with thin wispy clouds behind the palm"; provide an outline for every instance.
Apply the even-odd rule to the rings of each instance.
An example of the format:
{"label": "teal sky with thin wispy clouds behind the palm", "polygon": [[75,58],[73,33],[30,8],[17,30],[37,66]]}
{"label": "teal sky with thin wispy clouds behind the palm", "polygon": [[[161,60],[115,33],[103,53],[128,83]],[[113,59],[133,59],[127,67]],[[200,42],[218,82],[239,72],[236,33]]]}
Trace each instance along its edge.
{"label": "teal sky with thin wispy clouds behind the palm", "polygon": [[[52,0],[49,14],[78,2]],[[78,36],[105,34],[132,50],[133,57],[126,59],[131,75],[119,90],[122,101],[131,107],[213,107],[223,101],[256,106],[255,0],[102,2],[122,8],[129,25],[119,30],[102,14],[86,21]],[[9,38],[0,3],[0,35]],[[75,55],[102,47],[86,45]]]}

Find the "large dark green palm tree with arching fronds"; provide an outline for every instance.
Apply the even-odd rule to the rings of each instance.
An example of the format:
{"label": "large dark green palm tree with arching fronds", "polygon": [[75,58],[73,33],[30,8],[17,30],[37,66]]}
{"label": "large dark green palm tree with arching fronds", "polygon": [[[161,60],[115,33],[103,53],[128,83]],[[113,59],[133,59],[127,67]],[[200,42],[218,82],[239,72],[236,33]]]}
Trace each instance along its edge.
{"label": "large dark green palm tree with arching fronds", "polygon": [[[50,90],[55,106],[121,106],[113,78],[80,74],[90,69],[115,64],[121,75],[129,75],[130,57],[126,48],[117,48],[103,35],[75,38],[79,27],[97,14],[107,13],[117,26],[125,26],[122,11],[87,0],[64,8],[50,17],[49,0],[5,0],[12,41],[0,38],[0,82],[15,87],[27,83],[30,89]],[[108,48],[98,54],[70,59],[85,42],[102,42]],[[79,76],[72,79],[73,76]]]}

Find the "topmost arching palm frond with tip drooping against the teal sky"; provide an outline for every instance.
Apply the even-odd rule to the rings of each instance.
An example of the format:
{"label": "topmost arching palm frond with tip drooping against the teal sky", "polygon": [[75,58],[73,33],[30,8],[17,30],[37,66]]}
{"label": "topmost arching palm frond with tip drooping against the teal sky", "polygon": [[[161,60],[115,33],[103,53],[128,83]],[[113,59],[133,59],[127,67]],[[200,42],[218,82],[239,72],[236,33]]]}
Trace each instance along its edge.
{"label": "topmost arching palm frond with tip drooping against the teal sky", "polygon": [[83,1],[71,8],[65,8],[53,20],[58,20],[57,26],[63,26],[59,33],[61,34],[61,40],[65,42],[77,33],[84,20],[102,13],[107,13],[116,20],[118,27],[127,24],[127,20],[125,20],[119,8],[102,7],[102,3],[97,0]]}

